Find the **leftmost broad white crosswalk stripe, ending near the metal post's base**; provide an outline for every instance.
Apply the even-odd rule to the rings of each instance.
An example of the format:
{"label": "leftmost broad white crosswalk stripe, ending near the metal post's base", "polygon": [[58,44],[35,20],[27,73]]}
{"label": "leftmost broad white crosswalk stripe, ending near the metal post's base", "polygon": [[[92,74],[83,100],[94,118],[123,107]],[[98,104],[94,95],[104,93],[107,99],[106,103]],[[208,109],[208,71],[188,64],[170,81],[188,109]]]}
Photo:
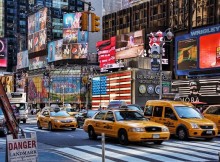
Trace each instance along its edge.
{"label": "leftmost broad white crosswalk stripe, ending near the metal post's base", "polygon": [[[101,156],[95,156],[95,155],[92,155],[92,154],[89,154],[89,153],[85,153],[83,151],[78,151],[76,149],[71,149],[71,148],[59,148],[59,149],[56,149],[57,151],[60,151],[60,152],[64,152],[66,154],[70,154],[70,155],[73,155],[73,156],[76,156],[76,157],[79,157],[81,159],[84,159],[84,160],[88,160],[89,158],[89,161],[91,162],[101,162],[102,161],[102,158]],[[87,159],[86,159],[87,157]],[[106,162],[113,162],[112,160],[108,160],[106,159],[105,160]]]}

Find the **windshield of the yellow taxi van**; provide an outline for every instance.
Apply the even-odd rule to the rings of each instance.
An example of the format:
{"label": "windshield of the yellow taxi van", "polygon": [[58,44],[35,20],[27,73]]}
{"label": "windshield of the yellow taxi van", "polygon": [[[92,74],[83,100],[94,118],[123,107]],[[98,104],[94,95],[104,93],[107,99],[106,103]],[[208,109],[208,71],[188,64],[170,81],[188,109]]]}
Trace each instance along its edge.
{"label": "windshield of the yellow taxi van", "polygon": [[195,110],[193,107],[189,106],[175,106],[175,110],[180,118],[187,118],[187,119],[192,119],[192,118],[198,118],[202,119],[202,115]]}

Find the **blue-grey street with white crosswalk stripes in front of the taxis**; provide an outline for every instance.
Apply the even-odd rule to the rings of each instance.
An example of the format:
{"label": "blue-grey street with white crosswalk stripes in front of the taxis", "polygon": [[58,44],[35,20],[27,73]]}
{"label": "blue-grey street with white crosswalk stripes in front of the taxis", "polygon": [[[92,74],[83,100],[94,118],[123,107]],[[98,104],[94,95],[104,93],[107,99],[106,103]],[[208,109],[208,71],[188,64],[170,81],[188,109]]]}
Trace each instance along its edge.
{"label": "blue-grey street with white crosswalk stripes in front of the taxis", "polygon": [[[39,162],[50,161],[102,161],[101,137],[97,140],[89,140],[87,133],[82,129],[56,130],[49,132],[46,129],[39,130],[36,121],[30,118],[26,124],[21,124],[27,133],[37,133]],[[115,139],[106,138],[106,161],[218,161],[220,150],[220,137],[211,142],[191,139],[179,141],[171,138],[162,145],[153,143],[132,143],[122,146]],[[5,137],[0,138],[0,161],[5,159]]]}

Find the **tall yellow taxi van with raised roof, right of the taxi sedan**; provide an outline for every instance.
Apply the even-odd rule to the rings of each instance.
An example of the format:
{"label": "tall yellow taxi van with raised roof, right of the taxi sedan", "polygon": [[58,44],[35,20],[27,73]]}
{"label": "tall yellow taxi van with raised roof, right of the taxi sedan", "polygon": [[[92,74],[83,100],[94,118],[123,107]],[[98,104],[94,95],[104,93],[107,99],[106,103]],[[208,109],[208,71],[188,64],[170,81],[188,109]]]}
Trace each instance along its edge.
{"label": "tall yellow taxi van with raised roof, right of the taxi sedan", "polygon": [[203,117],[192,104],[183,101],[148,100],[144,115],[169,128],[180,140],[202,137],[212,140],[218,134],[216,124]]}

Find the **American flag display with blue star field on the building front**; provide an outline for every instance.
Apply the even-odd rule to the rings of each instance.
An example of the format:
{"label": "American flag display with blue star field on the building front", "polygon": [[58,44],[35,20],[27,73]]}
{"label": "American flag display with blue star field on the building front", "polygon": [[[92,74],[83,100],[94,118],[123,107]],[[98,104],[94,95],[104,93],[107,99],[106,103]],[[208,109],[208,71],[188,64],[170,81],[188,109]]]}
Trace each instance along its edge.
{"label": "American flag display with blue star field on the building front", "polygon": [[92,108],[107,107],[112,100],[131,104],[131,71],[95,76],[92,79]]}

